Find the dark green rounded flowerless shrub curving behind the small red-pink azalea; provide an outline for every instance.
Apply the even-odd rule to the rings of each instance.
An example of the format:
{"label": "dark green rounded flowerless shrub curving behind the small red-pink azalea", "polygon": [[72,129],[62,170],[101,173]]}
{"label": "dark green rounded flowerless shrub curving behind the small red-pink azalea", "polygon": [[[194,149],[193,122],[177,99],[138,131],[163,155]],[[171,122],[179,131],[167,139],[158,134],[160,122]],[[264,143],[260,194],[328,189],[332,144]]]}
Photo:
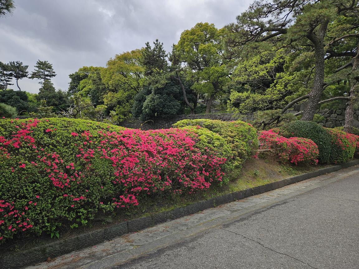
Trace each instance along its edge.
{"label": "dark green rounded flowerless shrub curving behind the small red-pink azalea", "polygon": [[318,161],[322,164],[330,162],[331,135],[319,124],[311,121],[293,121],[282,127],[280,134],[284,137],[304,137],[318,146]]}

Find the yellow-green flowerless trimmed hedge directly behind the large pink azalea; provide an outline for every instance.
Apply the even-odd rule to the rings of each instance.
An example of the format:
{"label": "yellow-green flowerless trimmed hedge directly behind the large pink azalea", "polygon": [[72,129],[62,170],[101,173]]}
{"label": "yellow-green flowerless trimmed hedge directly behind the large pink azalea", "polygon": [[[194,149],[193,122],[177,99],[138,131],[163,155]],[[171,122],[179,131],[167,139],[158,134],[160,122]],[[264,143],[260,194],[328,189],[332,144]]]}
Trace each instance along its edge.
{"label": "yellow-green flowerless trimmed hedge directly behind the large pink azalea", "polygon": [[173,127],[200,126],[218,133],[230,146],[232,154],[228,160],[230,178],[236,179],[243,163],[253,156],[258,148],[257,131],[243,121],[225,122],[213,119],[184,119],[173,124]]}

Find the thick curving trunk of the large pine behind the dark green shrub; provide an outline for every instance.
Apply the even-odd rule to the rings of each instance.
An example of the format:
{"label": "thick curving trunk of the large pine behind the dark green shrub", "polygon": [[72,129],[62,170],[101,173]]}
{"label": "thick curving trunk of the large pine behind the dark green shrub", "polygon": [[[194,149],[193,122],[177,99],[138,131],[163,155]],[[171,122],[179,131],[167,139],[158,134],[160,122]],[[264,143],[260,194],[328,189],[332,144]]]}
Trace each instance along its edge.
{"label": "thick curving trunk of the large pine behind the dark green shrub", "polygon": [[[322,22],[318,33],[309,32],[307,37],[314,44],[315,71],[313,89],[309,93],[307,107],[304,109],[302,121],[312,121],[317,110],[319,100],[323,93],[324,84],[324,36],[327,30],[328,20]],[[314,29],[313,29],[314,30]]]}

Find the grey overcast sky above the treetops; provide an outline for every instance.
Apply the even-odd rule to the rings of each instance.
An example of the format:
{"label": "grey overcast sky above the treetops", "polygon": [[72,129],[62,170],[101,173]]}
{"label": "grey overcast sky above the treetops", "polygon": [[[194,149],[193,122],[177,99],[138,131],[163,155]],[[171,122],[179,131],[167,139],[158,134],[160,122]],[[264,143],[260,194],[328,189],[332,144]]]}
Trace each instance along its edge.
{"label": "grey overcast sky above the treetops", "polygon": [[[106,66],[109,58],[158,38],[167,51],[197,22],[221,28],[252,0],[14,0],[12,16],[0,18],[0,61],[22,61],[33,70],[47,60],[56,89],[82,66]],[[37,93],[36,80],[19,81]],[[17,89],[16,85],[10,88]]]}

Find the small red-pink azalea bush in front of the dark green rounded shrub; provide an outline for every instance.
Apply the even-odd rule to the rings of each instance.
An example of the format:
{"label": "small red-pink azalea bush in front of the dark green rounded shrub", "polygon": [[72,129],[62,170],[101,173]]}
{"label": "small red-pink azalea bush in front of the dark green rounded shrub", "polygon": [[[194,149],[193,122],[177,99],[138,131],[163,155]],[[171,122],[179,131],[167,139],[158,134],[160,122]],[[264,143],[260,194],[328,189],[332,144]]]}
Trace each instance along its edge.
{"label": "small red-pink azalea bush in front of the dark green rounded shrub", "polygon": [[258,136],[263,152],[273,151],[280,161],[299,163],[318,163],[318,146],[312,140],[302,137],[286,138],[278,134],[279,130],[261,131]]}

